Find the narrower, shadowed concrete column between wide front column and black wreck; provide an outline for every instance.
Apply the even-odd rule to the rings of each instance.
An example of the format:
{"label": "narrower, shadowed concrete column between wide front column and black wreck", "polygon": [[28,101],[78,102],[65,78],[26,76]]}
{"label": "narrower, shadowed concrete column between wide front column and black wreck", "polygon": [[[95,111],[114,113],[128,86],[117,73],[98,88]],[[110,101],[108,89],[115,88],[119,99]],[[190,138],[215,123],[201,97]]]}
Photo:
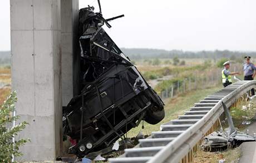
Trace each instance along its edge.
{"label": "narrower, shadowed concrete column between wide front column and black wreck", "polygon": [[61,0],[62,105],[79,93],[78,0]]}

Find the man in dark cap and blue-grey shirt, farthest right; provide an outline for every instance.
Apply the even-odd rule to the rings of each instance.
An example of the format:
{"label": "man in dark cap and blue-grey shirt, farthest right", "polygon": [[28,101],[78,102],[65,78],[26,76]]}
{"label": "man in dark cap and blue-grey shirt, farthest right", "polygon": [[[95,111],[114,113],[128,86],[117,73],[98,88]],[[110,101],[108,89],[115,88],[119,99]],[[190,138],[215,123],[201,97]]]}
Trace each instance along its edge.
{"label": "man in dark cap and blue-grey shirt, farthest right", "polygon": [[[244,80],[253,80],[256,75],[256,67],[250,62],[250,56],[245,56],[245,63],[243,65]],[[251,90],[252,96],[255,95],[254,88]]]}

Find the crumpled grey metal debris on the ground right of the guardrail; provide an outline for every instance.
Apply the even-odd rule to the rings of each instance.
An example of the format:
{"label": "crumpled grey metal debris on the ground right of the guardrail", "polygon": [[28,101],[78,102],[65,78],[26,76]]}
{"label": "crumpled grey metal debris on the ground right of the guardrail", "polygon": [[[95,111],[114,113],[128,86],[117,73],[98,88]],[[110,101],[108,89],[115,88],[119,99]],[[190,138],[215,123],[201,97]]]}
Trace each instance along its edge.
{"label": "crumpled grey metal debris on the ground right of the guardrail", "polygon": [[224,113],[227,116],[229,128],[223,131],[222,127],[220,131],[214,131],[208,136],[204,137],[204,141],[201,145],[204,151],[217,151],[227,149],[229,147],[237,147],[243,142],[255,141],[255,134],[252,136],[246,133],[239,132],[235,129],[232,117],[224,102],[222,102]]}

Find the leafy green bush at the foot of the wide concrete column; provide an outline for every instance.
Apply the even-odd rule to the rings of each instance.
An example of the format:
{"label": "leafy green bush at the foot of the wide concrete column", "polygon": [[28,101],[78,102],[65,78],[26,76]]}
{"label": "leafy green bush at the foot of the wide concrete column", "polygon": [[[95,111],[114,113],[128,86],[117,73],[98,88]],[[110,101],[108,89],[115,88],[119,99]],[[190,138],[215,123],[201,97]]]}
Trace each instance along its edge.
{"label": "leafy green bush at the foot of the wide concrete column", "polygon": [[27,122],[21,122],[11,129],[7,128],[8,124],[12,124],[14,120],[19,118],[18,116],[11,116],[16,101],[16,92],[12,92],[0,107],[0,162],[4,163],[12,162],[12,155],[16,157],[22,156],[22,153],[19,152],[19,147],[29,141],[28,139],[20,139],[14,143],[12,142],[13,136],[25,129]]}

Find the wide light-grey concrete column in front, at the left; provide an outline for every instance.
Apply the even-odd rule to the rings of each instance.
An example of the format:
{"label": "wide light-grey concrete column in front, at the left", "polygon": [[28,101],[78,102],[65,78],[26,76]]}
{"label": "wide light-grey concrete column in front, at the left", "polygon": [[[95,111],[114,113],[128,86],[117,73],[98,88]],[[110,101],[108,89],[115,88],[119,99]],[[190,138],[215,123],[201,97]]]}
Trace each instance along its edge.
{"label": "wide light-grey concrete column in front, at the left", "polygon": [[30,138],[23,161],[53,161],[61,155],[61,3],[10,0],[12,88],[17,115],[29,125],[17,136]]}

